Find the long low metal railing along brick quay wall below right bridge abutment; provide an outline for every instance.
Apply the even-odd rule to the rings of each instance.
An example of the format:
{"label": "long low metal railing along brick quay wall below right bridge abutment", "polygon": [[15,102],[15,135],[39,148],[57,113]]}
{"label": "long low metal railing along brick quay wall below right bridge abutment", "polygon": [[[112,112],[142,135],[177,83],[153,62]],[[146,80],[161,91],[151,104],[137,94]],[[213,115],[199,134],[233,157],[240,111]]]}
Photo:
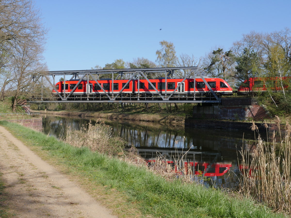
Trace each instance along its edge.
{"label": "long low metal railing along brick quay wall below right bridge abutment", "polygon": [[239,121],[239,122],[264,122],[275,123],[276,118],[255,118],[255,117],[214,117],[214,116],[193,116],[186,115],[186,119],[207,119],[207,120],[221,120],[221,121]]}

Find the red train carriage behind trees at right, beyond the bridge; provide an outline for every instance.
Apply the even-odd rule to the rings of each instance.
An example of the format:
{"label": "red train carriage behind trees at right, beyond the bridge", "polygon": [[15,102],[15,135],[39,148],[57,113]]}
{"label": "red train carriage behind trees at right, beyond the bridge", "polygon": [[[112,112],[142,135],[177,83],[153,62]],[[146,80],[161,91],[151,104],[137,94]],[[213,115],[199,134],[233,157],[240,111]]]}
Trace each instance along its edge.
{"label": "red train carriage behind trees at right, beyond the bridge", "polygon": [[250,92],[270,91],[281,92],[290,87],[291,77],[254,77],[245,80],[237,89],[237,94],[245,95]]}

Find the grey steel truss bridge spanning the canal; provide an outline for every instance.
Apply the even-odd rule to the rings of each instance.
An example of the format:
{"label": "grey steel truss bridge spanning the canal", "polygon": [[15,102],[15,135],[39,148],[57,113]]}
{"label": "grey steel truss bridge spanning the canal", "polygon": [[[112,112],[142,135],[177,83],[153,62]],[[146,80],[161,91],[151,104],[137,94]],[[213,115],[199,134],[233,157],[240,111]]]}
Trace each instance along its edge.
{"label": "grey steel truss bridge spanning the canal", "polygon": [[[175,88],[174,91],[167,91],[167,85],[165,85],[165,93],[160,93],[150,82],[148,79],[149,73],[159,73],[160,75],[164,75],[162,79],[165,79],[165,84],[167,84],[168,78],[180,78],[176,72],[185,71],[187,75],[180,82],[180,84]],[[123,85],[122,89],[118,93],[113,93],[109,91],[105,91],[101,84],[98,82],[99,78],[102,77],[103,74],[111,75],[111,80],[117,79],[128,79],[127,83]],[[209,88],[211,93],[209,95],[205,95],[203,93],[183,93],[177,92],[177,90],[181,90],[181,85],[187,78],[190,78],[190,75],[194,75],[191,78],[194,78],[194,84],[196,83],[196,78],[201,78],[206,86]],[[55,78],[56,76],[62,76],[64,81],[74,80],[77,81],[77,84],[74,86],[70,93],[59,93],[55,88]],[[140,93],[139,88],[139,80],[145,79],[149,82],[150,85],[155,89],[155,93],[145,94]],[[109,80],[110,80],[109,79]],[[128,94],[123,93],[122,91],[125,89],[127,84],[132,79],[138,80],[138,91],[136,93]],[[161,79],[161,78],[159,78]],[[52,94],[52,97],[44,97],[43,96],[43,80],[46,80],[51,85],[51,90],[55,90],[56,94]],[[86,87],[86,93],[74,94],[74,90],[76,90],[77,86],[81,81],[87,81],[89,84],[89,80],[94,80],[104,93],[92,93],[89,85]],[[205,78],[198,71],[197,67],[163,67],[163,68],[138,68],[138,69],[97,69],[97,70],[71,70],[71,71],[48,71],[48,72],[40,72],[38,75],[34,75],[31,80],[34,84],[41,81],[41,94],[38,97],[34,97],[33,99],[27,100],[30,103],[221,103],[221,99],[217,96],[216,93],[212,90],[210,85],[206,82]],[[57,81],[58,82],[58,81]],[[112,89],[113,90],[113,82]],[[65,90],[65,83],[63,83]],[[181,88],[180,88],[181,87]],[[31,89],[30,89],[31,90]]]}

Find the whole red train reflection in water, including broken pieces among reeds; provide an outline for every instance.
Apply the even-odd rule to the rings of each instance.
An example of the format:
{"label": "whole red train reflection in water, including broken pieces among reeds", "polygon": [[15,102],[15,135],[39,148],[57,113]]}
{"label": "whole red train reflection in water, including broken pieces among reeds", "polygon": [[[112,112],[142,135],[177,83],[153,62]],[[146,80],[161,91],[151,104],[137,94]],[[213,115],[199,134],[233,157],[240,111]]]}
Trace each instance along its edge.
{"label": "whole red train reflection in water, including broken pieces among reeds", "polygon": [[[156,160],[147,160],[148,166],[154,164]],[[162,161],[165,162],[165,161]],[[171,168],[178,172],[178,168],[175,165],[174,161],[166,161],[167,164],[171,166]],[[222,176],[227,173],[232,166],[231,163],[207,163],[207,162],[184,162],[185,173],[191,173],[194,175],[203,175],[203,176]],[[190,170],[190,171],[189,171]],[[181,172],[179,172],[181,173]]]}

